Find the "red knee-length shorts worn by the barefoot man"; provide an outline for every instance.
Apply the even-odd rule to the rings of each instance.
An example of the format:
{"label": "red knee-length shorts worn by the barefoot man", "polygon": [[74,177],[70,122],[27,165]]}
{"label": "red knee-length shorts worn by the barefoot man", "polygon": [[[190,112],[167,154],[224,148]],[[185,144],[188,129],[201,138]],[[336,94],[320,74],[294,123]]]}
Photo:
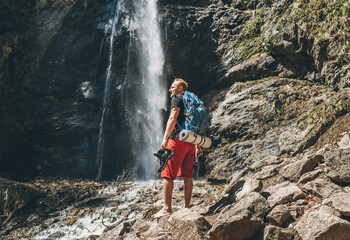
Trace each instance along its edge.
{"label": "red knee-length shorts worn by the barefoot man", "polygon": [[162,171],[162,178],[174,180],[176,177],[192,178],[195,149],[192,143],[169,139],[168,149],[174,152],[172,158]]}

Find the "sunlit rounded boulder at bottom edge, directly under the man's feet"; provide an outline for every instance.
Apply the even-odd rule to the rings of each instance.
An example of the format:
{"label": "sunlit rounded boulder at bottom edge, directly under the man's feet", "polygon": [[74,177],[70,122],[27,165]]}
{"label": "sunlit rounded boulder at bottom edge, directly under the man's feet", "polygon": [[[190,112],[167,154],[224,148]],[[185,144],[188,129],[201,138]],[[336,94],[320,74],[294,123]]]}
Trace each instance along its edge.
{"label": "sunlit rounded boulder at bottom edge, directly under the man's feet", "polygon": [[199,213],[183,208],[169,218],[169,232],[174,239],[203,239],[210,224]]}

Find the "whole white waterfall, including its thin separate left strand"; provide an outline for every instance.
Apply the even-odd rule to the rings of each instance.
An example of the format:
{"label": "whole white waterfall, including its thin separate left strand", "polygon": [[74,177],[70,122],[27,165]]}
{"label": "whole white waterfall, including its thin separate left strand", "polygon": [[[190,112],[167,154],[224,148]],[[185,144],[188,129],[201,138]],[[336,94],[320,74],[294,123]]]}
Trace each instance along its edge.
{"label": "whole white waterfall, including its thin separate left strand", "polygon": [[[164,53],[157,0],[119,0],[115,5],[113,20],[108,28],[109,59],[98,137],[97,180],[103,175],[104,132],[107,131],[104,125],[110,94],[116,96],[118,110],[124,114],[121,117],[126,129],[122,130],[127,134],[122,138],[130,143],[127,148],[131,158],[124,161],[134,162],[135,171],[139,176],[153,178],[157,163],[153,152],[158,150],[163,135],[162,110],[166,108],[167,94],[162,78]],[[118,51],[127,51],[127,57],[123,55],[124,58],[118,59],[117,62],[124,61],[122,65],[125,65],[126,70],[124,75],[119,74],[116,79],[115,74],[113,75],[112,86],[115,84],[115,88],[111,88],[111,74],[112,71],[116,71],[115,66],[112,66],[115,58],[113,52],[116,51],[115,39],[120,34],[117,29],[122,31],[123,28],[123,34],[127,29],[129,40],[127,47],[120,47]],[[125,38],[125,35],[123,37]]]}

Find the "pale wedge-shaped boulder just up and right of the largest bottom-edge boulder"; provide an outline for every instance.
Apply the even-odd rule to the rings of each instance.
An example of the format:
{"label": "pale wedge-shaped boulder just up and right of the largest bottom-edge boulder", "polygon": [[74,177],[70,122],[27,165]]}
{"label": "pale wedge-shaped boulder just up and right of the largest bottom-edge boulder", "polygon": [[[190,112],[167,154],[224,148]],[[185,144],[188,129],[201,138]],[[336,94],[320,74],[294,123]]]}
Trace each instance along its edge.
{"label": "pale wedge-shaped boulder just up and right of the largest bottom-edge boulder", "polygon": [[300,190],[300,188],[294,183],[290,182],[283,182],[270,186],[264,191],[264,193],[269,195],[267,202],[269,203],[270,207],[287,202],[293,202],[305,197],[305,194]]}

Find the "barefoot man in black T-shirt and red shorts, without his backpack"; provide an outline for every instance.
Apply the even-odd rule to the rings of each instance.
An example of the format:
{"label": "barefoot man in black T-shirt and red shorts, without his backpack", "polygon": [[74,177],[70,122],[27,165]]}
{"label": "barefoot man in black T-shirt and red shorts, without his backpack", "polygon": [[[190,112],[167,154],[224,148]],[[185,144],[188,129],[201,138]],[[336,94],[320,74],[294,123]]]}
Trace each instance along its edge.
{"label": "barefoot man in black T-shirt and red shorts, without his backpack", "polygon": [[[182,98],[187,88],[188,84],[183,79],[176,78],[169,89],[171,111],[161,147],[170,149],[174,152],[174,155],[169,159],[167,166],[161,174],[163,178],[164,205],[163,208],[153,216],[156,219],[172,214],[171,199],[176,177],[182,177],[184,180],[184,207],[190,207],[193,188],[192,173],[195,145],[182,142],[178,138],[180,127],[185,118]],[[178,124],[176,124],[176,122],[178,122]]]}

